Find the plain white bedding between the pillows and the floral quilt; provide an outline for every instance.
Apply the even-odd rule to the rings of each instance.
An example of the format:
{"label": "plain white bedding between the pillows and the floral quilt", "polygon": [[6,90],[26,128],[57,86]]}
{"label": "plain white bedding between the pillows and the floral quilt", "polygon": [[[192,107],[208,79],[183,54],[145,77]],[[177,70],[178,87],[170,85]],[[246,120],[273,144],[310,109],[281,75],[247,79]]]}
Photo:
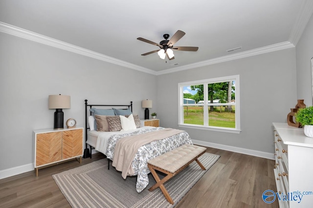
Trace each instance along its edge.
{"label": "plain white bedding between the pillows and the floral quilt", "polygon": [[106,152],[107,152],[107,146],[108,146],[108,139],[113,134],[130,133],[130,132],[135,132],[141,129],[150,129],[150,128],[154,128],[154,127],[145,126],[145,127],[137,128],[135,130],[121,131],[121,132],[98,132],[94,130],[89,131],[87,144],[94,147],[96,151],[100,151],[101,153],[107,155]]}

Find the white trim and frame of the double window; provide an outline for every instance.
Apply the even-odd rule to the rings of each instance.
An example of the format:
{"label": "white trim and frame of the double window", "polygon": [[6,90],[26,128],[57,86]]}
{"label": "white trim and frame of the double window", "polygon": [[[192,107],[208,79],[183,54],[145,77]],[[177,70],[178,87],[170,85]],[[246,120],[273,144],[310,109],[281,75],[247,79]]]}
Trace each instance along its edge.
{"label": "white trim and frame of the double window", "polygon": [[[221,105],[219,104],[207,104],[204,102],[203,104],[183,104],[183,87],[184,86],[190,86],[190,85],[200,85],[200,84],[211,84],[211,83],[217,83],[217,82],[227,82],[235,80],[235,87],[236,87],[236,93],[235,93],[235,119],[236,119],[236,125],[235,128],[225,128],[225,127],[212,127],[208,126],[207,119],[204,119],[203,126],[202,125],[194,125],[194,124],[184,124],[183,123],[183,111],[181,109],[182,106],[203,106],[203,109],[208,108],[208,106],[211,105]],[[239,81],[239,75],[234,76],[224,76],[224,77],[217,77],[217,78],[211,78],[211,79],[202,79],[197,81],[189,81],[189,82],[181,82],[178,84],[178,93],[179,93],[179,107],[178,107],[178,126],[179,127],[185,127],[185,128],[193,128],[193,129],[202,129],[202,130],[211,130],[211,131],[218,131],[218,132],[232,132],[232,133],[240,133],[240,81]],[[208,100],[208,92],[207,88],[203,88],[203,100]],[[223,103],[223,105],[228,105],[226,103]],[[203,111],[203,117],[208,117],[208,111]]]}

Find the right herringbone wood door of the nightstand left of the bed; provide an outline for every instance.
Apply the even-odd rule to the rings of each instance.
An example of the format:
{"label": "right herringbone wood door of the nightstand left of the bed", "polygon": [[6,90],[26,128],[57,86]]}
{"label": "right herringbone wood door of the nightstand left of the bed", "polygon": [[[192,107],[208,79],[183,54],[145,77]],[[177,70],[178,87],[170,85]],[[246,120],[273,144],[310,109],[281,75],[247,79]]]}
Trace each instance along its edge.
{"label": "right herringbone wood door of the nightstand left of the bed", "polygon": [[68,159],[82,154],[83,130],[64,131],[62,135],[62,159]]}

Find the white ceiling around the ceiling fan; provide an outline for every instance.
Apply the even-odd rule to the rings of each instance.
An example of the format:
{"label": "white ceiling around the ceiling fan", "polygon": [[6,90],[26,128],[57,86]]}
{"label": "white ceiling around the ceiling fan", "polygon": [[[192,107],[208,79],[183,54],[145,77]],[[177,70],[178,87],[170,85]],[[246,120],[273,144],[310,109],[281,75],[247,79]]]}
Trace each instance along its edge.
{"label": "white ceiling around the ceiling fan", "polygon": [[[160,72],[295,44],[311,8],[312,0],[0,0],[0,22]],[[177,30],[186,35],[174,46],[199,50],[141,56],[159,48],[136,38],[159,43]]]}

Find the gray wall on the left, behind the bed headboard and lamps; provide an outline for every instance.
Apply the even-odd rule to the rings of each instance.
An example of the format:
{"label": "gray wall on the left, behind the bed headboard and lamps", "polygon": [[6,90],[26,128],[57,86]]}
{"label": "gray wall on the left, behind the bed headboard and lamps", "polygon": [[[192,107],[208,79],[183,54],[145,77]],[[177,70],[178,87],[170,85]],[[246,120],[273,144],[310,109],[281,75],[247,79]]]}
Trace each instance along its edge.
{"label": "gray wall on the left, behind the bed headboard and lamps", "polygon": [[141,100],[156,100],[156,76],[5,33],[0,46],[0,170],[32,163],[32,131],[53,128],[48,95],[70,95],[64,120],[75,118],[82,127],[85,99],[90,104],[133,101],[140,118]]}

